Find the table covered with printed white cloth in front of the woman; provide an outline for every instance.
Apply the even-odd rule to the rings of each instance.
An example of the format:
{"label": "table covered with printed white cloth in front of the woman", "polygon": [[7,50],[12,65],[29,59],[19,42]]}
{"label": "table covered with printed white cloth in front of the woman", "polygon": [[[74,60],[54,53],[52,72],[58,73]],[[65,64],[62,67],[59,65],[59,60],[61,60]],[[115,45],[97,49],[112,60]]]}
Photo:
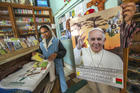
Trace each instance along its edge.
{"label": "table covered with printed white cloth in front of the woman", "polygon": [[[34,62],[29,62],[19,71],[0,81],[0,93],[32,93],[49,71],[54,70],[54,63],[48,62],[45,69],[33,69]],[[30,73],[32,71],[33,73]],[[55,73],[50,78],[55,79]],[[47,83],[47,82],[46,82]],[[20,92],[19,92],[20,91]]]}

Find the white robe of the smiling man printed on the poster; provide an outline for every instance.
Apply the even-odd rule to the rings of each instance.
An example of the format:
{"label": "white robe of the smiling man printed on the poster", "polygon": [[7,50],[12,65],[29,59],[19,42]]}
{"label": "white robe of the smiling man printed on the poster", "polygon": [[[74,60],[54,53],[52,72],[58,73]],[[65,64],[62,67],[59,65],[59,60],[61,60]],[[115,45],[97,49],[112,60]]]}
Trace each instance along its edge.
{"label": "white robe of the smiling man printed on the poster", "polygon": [[74,56],[76,65],[83,63],[84,66],[123,69],[122,59],[118,55],[104,49],[95,53],[90,47],[82,48],[81,50],[75,48]]}

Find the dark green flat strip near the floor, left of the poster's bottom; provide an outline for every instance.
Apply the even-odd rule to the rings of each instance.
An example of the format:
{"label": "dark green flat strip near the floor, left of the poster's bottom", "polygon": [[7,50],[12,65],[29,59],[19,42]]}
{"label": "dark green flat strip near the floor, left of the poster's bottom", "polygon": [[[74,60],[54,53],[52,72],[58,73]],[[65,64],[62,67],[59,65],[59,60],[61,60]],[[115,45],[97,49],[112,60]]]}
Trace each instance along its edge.
{"label": "dark green flat strip near the floor, left of the poster's bottom", "polygon": [[78,83],[74,84],[73,86],[71,86],[66,93],[75,93],[77,90],[79,90],[80,88],[82,88],[83,86],[85,86],[87,84],[86,80],[81,80]]}

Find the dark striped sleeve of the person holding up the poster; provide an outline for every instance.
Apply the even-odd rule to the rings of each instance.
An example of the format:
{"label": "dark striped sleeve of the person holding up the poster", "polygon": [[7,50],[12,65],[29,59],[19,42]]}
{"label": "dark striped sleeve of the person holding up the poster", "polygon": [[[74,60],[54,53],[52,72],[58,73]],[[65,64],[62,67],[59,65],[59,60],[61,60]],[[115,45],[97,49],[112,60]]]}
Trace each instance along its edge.
{"label": "dark striped sleeve of the person holding up the poster", "polygon": [[123,23],[121,25],[121,47],[127,48],[131,45],[132,38],[136,32],[140,31],[140,28],[137,27],[137,24],[132,22],[130,25]]}

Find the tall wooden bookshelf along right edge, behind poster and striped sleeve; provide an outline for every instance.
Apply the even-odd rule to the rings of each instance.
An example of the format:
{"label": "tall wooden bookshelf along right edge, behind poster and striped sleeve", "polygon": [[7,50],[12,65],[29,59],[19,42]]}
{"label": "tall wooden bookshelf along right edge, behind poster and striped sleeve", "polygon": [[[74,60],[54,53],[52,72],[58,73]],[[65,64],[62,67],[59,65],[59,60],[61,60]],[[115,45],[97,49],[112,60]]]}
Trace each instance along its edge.
{"label": "tall wooden bookshelf along right edge, behind poster and striped sleeve", "polygon": [[[123,2],[125,2],[124,0]],[[126,2],[130,2],[127,0]],[[139,0],[133,0],[136,3],[136,13],[133,21],[140,29],[140,6]],[[135,33],[132,38],[132,44],[124,49],[124,89],[121,93],[139,93],[140,91],[140,31]],[[138,67],[139,66],[139,67]],[[134,78],[138,77],[138,78]]]}

